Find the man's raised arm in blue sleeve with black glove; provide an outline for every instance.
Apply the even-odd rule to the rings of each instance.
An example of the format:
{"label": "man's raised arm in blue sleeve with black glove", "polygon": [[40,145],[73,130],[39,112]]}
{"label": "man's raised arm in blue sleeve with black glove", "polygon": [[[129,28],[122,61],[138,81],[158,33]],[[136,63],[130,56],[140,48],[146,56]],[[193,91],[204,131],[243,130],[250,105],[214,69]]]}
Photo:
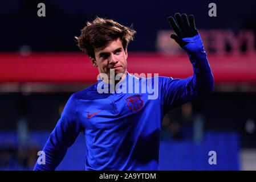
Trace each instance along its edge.
{"label": "man's raised arm in blue sleeve with black glove", "polygon": [[187,17],[186,14],[176,13],[175,18],[178,25],[172,16],[168,18],[177,34],[170,35],[170,38],[174,39],[188,53],[194,74],[185,79],[161,78],[165,111],[212,92],[214,84],[202,40],[194,24],[194,16]]}

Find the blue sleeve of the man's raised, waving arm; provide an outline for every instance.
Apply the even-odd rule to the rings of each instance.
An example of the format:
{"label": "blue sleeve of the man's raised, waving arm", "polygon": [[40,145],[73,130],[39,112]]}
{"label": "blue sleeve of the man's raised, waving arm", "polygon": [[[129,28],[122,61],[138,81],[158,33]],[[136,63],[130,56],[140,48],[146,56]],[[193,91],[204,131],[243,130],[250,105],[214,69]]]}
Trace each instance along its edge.
{"label": "blue sleeve of the man's raised, waving arm", "polygon": [[189,42],[182,48],[188,53],[194,73],[193,76],[185,79],[159,77],[164,114],[176,106],[185,104],[213,90],[213,74],[200,35],[197,34],[192,38],[183,38],[182,40]]}

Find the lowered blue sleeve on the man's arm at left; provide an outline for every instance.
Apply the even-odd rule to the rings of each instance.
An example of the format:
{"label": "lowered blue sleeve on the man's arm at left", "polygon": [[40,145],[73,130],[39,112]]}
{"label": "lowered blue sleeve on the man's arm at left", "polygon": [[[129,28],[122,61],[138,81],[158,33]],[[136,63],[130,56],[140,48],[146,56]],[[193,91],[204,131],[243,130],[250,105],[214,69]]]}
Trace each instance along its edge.
{"label": "lowered blue sleeve on the man's arm at left", "polygon": [[39,164],[36,162],[34,171],[55,170],[66,154],[67,148],[75,142],[78,134],[82,131],[77,119],[76,102],[77,100],[73,94],[67,101],[59,121],[43,148],[45,163],[40,162],[42,164]]}

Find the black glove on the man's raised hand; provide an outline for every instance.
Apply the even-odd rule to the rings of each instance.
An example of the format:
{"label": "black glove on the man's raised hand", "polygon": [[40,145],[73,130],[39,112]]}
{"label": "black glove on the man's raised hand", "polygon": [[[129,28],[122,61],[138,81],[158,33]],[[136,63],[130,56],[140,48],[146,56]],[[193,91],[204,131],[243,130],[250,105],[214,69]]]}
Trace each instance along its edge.
{"label": "black glove on the man's raised hand", "polygon": [[174,32],[177,34],[170,35],[170,38],[174,39],[181,47],[184,47],[188,42],[185,42],[182,38],[192,38],[198,34],[196,26],[194,25],[194,16],[189,15],[187,18],[186,14],[180,15],[180,13],[176,13],[175,18],[178,22],[178,26],[172,16],[168,18],[170,26],[172,26]]}

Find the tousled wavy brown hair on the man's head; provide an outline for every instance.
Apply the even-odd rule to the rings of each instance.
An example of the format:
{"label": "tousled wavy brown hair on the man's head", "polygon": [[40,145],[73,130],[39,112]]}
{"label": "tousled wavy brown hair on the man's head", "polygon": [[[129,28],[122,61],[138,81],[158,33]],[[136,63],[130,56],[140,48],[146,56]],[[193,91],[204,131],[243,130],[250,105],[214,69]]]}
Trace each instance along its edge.
{"label": "tousled wavy brown hair on the man's head", "polygon": [[95,59],[95,48],[103,47],[117,38],[121,39],[123,48],[126,50],[135,33],[132,26],[125,27],[112,19],[97,17],[93,22],[87,22],[81,30],[81,35],[75,38],[78,40],[78,47]]}

